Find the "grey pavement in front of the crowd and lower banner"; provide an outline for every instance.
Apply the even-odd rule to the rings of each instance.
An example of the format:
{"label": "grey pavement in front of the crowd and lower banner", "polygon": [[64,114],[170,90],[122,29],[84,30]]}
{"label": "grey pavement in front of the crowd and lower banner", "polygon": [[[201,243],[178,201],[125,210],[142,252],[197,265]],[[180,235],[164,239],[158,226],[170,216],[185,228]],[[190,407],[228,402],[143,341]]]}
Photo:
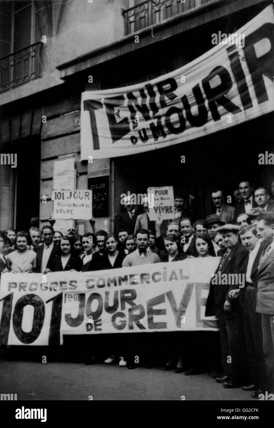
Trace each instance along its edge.
{"label": "grey pavement in front of the crowd and lower banner", "polygon": [[[161,367],[134,370],[117,363],[0,360],[0,393],[17,400],[250,400],[241,388],[225,389],[208,374],[185,376]],[[92,398],[91,398],[92,396]]]}

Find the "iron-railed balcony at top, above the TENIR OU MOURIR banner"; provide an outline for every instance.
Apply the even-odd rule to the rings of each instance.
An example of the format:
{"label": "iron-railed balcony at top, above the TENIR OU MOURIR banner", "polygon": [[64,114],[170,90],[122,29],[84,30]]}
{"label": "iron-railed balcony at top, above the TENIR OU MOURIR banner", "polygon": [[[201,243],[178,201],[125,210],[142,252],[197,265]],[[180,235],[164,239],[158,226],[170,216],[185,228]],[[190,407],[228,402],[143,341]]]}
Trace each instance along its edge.
{"label": "iron-railed balcony at top, above the TENIR OU MOURIR banner", "polygon": [[124,10],[125,36],[158,24],[165,19],[202,6],[211,0],[147,0]]}

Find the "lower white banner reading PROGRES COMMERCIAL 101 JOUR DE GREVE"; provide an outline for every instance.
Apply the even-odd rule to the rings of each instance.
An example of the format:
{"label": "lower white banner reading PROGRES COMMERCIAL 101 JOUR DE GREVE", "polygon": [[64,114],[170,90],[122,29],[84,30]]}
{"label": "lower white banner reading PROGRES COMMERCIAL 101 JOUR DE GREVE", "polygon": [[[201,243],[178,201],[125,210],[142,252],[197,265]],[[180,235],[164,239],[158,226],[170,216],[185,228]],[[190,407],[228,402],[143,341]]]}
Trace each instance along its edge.
{"label": "lower white banner reading PROGRES COMMERCIAL 101 JOUR DE GREVE", "polygon": [[219,257],[95,272],[4,273],[0,344],[56,345],[62,334],[217,330],[205,317]]}

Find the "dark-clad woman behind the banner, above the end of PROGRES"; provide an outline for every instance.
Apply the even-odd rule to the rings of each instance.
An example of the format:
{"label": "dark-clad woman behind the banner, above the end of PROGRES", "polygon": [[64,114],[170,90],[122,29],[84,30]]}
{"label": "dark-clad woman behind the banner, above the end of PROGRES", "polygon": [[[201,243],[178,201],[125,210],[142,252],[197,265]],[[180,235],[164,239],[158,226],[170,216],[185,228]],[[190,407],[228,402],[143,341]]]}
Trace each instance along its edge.
{"label": "dark-clad woman behind the banner, above the end of PROGRES", "polygon": [[60,242],[60,253],[57,253],[49,269],[52,272],[62,270],[78,270],[82,268],[82,260],[74,253],[73,245],[68,236],[63,236]]}

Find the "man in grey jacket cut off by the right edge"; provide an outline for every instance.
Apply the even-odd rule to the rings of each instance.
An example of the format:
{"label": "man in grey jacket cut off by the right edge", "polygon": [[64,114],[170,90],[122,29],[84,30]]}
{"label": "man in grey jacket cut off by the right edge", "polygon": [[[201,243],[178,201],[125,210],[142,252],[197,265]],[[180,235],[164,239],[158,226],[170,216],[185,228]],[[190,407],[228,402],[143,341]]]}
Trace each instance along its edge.
{"label": "man in grey jacket cut off by the right edge", "polygon": [[267,377],[267,391],[274,393],[274,214],[258,217],[256,229],[267,244],[262,253],[257,274],[256,312],[262,317],[262,342]]}

